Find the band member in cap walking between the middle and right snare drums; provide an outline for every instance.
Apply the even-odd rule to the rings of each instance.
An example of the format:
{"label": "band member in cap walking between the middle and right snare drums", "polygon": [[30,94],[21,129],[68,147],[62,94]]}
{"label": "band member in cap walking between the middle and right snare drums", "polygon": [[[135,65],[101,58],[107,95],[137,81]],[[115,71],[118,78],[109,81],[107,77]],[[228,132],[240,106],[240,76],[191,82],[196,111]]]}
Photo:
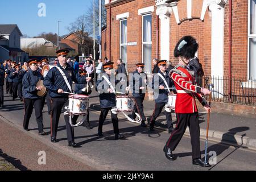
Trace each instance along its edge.
{"label": "band member in cap walking between the middle and right snare drums", "polygon": [[143,110],[144,109],[143,101],[146,94],[146,88],[144,87],[144,85],[146,85],[146,83],[145,82],[143,83],[143,81],[147,82],[147,75],[146,73],[143,72],[144,63],[138,63],[136,64],[136,66],[137,66],[137,71],[134,71],[133,77],[130,78],[130,85],[133,85],[132,93],[135,100],[135,105],[134,105],[133,113],[129,116],[131,119],[135,119],[136,118],[135,113],[138,113],[142,119],[141,126],[146,127],[146,123],[145,123],[146,117],[144,115],[144,110]]}

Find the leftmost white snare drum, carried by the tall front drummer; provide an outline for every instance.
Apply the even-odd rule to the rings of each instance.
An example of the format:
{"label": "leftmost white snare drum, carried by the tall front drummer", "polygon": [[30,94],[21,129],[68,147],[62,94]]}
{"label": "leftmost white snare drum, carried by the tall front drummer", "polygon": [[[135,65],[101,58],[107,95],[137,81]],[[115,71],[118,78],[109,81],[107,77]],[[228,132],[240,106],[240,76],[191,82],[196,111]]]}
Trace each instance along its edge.
{"label": "leftmost white snare drum, carried by the tall front drummer", "polygon": [[71,95],[69,96],[68,113],[75,115],[85,115],[89,107],[89,96]]}

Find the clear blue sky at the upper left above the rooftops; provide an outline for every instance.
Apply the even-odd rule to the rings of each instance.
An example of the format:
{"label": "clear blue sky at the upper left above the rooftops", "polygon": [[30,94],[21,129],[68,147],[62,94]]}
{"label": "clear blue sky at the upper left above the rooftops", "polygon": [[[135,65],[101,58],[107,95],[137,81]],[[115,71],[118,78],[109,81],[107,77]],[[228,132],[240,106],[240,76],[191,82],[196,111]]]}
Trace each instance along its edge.
{"label": "clear blue sky at the upper left above the rooftops", "polygon": [[[42,32],[68,34],[67,26],[86,13],[93,0],[8,0],[1,5],[0,24],[18,24],[22,34],[37,36]],[[39,3],[46,5],[46,16],[39,17]]]}

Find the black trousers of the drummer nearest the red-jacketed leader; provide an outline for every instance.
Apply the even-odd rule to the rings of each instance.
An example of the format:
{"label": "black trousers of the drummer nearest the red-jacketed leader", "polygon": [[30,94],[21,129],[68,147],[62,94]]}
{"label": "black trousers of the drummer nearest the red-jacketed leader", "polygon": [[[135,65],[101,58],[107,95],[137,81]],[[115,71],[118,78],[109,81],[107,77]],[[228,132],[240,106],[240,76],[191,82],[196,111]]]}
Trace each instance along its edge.
{"label": "black trousers of the drummer nearest the red-jacketed leader", "polygon": [[[160,113],[162,112],[164,106],[166,105],[165,102],[163,103],[155,103],[155,110],[153,111],[153,114],[150,119],[150,127],[154,127],[156,118],[159,117]],[[168,129],[173,129],[174,125],[172,124],[172,113],[166,112],[166,121],[167,121],[167,127]]]}

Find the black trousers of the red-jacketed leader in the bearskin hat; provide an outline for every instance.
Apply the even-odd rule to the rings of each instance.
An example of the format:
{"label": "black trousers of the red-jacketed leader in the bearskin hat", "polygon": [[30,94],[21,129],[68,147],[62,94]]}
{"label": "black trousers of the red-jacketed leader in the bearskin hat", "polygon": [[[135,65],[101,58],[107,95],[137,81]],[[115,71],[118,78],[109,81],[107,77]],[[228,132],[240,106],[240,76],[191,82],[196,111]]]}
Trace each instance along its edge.
{"label": "black trousers of the red-jacketed leader in the bearskin hat", "polygon": [[199,114],[198,113],[189,113],[189,114],[180,114],[177,115],[177,125],[174,129],[174,132],[171,134],[171,137],[166,142],[166,146],[171,148],[172,151],[175,150],[177,144],[179,144],[187,126],[189,127],[189,132],[191,136],[191,145],[192,145],[192,159],[201,158],[200,151],[200,127],[199,127]]}

